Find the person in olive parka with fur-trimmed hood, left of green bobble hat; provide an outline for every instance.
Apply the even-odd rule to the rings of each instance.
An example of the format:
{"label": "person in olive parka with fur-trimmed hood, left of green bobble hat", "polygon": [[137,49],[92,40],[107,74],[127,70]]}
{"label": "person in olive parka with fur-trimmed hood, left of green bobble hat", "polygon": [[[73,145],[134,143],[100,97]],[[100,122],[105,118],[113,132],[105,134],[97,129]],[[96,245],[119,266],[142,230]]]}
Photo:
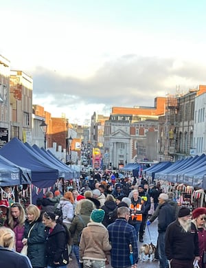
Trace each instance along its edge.
{"label": "person in olive parka with fur-trimmed hood, left of green bobble hat", "polygon": [[72,251],[76,256],[77,263],[80,267],[79,263],[79,243],[80,243],[80,235],[84,227],[87,226],[87,223],[90,221],[90,214],[95,209],[95,205],[92,201],[88,199],[82,199],[78,201],[78,210],[80,213],[76,214],[71,223],[71,227],[69,229],[71,233],[71,237],[73,238]]}

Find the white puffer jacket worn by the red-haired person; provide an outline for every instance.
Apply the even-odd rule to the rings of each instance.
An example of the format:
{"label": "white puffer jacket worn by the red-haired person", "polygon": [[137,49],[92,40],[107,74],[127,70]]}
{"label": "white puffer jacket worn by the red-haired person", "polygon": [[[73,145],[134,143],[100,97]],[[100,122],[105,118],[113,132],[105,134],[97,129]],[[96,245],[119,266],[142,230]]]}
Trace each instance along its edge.
{"label": "white puffer jacket worn by the red-haired person", "polygon": [[69,201],[69,199],[62,197],[60,199],[60,203],[57,206],[57,208],[62,209],[63,223],[71,223],[71,221],[73,220],[73,216],[74,216],[74,210],[73,210],[73,205]]}

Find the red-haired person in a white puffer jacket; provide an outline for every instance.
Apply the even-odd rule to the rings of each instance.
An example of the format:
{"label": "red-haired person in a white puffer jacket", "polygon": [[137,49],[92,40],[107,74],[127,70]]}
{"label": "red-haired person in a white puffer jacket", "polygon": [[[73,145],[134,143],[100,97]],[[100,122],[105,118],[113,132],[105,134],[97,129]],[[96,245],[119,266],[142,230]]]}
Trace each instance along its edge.
{"label": "red-haired person in a white puffer jacket", "polygon": [[57,206],[57,208],[62,209],[62,223],[67,226],[68,230],[71,226],[74,215],[73,203],[74,200],[72,192],[65,192],[64,197],[60,199],[60,203]]}

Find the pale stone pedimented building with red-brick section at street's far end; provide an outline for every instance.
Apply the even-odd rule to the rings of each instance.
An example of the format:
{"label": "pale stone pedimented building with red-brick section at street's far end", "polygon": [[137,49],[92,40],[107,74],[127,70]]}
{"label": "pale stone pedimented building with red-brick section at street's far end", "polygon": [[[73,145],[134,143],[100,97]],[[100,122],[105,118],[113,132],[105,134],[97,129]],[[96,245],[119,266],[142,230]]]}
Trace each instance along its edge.
{"label": "pale stone pedimented building with red-brick section at street's far end", "polygon": [[[132,115],[111,115],[105,122],[104,166],[118,169],[131,162],[157,160],[158,120],[132,121]],[[154,150],[149,150],[150,143]]]}

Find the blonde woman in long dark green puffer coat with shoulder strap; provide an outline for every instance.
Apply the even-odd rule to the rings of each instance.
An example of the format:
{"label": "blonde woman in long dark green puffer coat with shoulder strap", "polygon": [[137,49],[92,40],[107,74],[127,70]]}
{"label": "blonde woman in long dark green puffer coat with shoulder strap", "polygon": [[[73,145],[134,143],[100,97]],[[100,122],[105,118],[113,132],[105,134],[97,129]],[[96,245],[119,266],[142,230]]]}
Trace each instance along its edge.
{"label": "blonde woman in long dark green puffer coat with shoulder strap", "polygon": [[32,267],[45,267],[45,225],[41,220],[41,211],[36,205],[29,205],[26,209],[27,220],[23,234],[23,245],[28,246],[27,256]]}

